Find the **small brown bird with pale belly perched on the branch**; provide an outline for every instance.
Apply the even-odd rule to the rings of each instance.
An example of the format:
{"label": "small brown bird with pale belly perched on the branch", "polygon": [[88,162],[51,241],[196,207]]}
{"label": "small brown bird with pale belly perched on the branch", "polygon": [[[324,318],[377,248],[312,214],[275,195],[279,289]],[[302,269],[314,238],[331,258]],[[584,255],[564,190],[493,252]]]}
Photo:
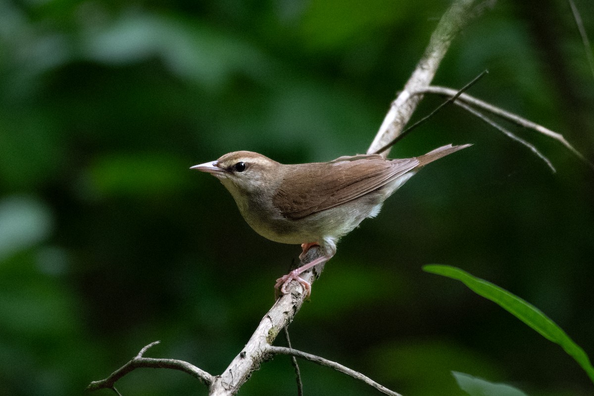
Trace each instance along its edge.
{"label": "small brown bird with pale belly perched on the branch", "polygon": [[276,280],[278,292],[304,271],[336,254],[339,239],[365,218],[377,216],[390,195],[426,164],[471,144],[444,145],[419,157],[342,156],[328,162],[282,164],[253,151],[233,151],[190,169],[210,173],[230,192],[244,220],[274,242],[301,244],[300,259],[319,246],[320,256]]}

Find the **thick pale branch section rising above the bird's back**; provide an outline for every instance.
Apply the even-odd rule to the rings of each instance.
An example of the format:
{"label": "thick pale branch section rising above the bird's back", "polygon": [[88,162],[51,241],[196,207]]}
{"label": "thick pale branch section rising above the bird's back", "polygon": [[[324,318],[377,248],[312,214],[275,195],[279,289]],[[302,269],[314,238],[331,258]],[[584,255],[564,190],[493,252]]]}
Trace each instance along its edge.
{"label": "thick pale branch section rising above the bird's back", "polygon": [[[381,123],[380,129],[369,146],[367,153],[372,154],[396,138],[406,123],[410,120],[416,106],[421,102],[422,95],[412,93],[423,90],[431,84],[441,60],[454,36],[462,29],[471,18],[478,16],[485,4],[475,5],[476,0],[455,0],[450,8],[441,17],[435,31],[431,34],[429,45],[425,53],[406,82],[404,90],[392,102],[386,118]],[[381,155],[386,158],[390,150],[385,150]]]}

